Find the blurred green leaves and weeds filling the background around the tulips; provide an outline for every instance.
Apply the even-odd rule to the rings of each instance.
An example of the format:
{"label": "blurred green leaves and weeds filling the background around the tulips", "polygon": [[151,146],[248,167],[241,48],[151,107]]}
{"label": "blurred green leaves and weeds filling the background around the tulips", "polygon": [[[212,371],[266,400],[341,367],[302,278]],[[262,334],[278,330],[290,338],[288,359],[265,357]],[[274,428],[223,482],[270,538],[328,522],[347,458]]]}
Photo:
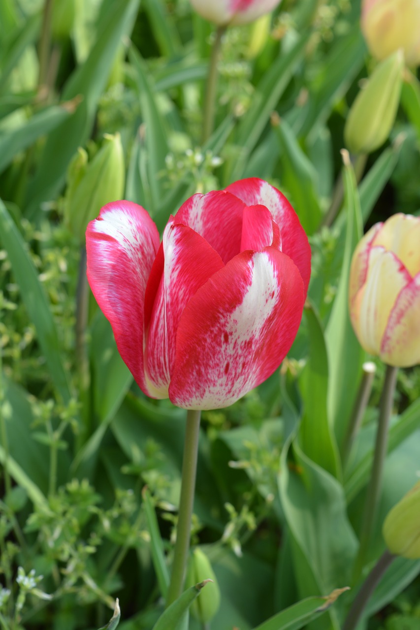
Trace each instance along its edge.
{"label": "blurred green leaves and weeds filling the background around the tulips", "polygon": [[[344,168],[341,212],[326,225],[347,112],[374,65],[359,3],[284,0],[274,16],[230,28],[216,130],[201,146],[212,33],[187,0],[0,1],[4,628],[96,628],[115,597],[122,630],[150,629],[163,610],[184,411],[144,397],[86,302],[81,234],[99,207],[72,221],[66,210],[69,165],[78,147],[92,161],[104,134],[120,134],[124,197],[160,230],[192,193],[259,176],[288,196],[312,244],[312,307],[281,370],[202,415],[192,542],[221,589],[211,627],[250,630],[349,585],[309,626],[338,630],[358,588],[351,565],[383,367],[343,466],[365,360],[347,316],[349,261],[362,224],[418,214],[420,100],[406,83],[389,142],[356,172],[358,187]],[[92,180],[92,198],[102,185]],[[419,369],[400,370],[366,570],[385,549],[383,518],[419,471],[419,393]],[[419,627],[419,571],[420,561],[397,559],[360,627]]]}

